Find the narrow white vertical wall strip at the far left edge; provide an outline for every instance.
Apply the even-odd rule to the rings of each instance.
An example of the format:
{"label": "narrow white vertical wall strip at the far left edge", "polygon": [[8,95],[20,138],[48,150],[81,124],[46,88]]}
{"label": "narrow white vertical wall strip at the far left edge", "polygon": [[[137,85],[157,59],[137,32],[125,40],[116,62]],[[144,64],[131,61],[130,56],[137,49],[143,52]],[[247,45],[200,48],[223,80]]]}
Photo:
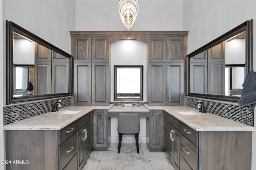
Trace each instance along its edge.
{"label": "narrow white vertical wall strip at the far left edge", "polygon": [[[3,51],[3,26],[5,22],[3,22],[3,8],[2,8],[3,0],[0,0],[0,94],[4,94],[4,51]],[[4,95],[0,95],[0,160],[4,160]],[[4,169],[4,165],[0,164],[0,169]]]}

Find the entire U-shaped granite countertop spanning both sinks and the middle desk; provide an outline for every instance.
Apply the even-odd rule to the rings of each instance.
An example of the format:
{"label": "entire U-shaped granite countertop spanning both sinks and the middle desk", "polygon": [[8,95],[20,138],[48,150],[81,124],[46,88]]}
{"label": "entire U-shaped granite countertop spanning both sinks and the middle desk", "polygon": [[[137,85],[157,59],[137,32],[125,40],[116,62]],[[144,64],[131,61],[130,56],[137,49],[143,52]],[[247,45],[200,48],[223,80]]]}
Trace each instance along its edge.
{"label": "entire U-shaped granite countertop spanning both sinks and the middle desk", "polygon": [[[59,109],[56,113],[44,113],[4,126],[4,130],[60,130],[73,121],[79,119],[94,109],[108,109],[108,111],[140,111],[148,112],[152,109],[163,109],[170,115],[186,123],[196,131],[255,131],[255,128],[218,115],[200,113],[198,109],[188,106],[148,106],[145,107],[112,107],[109,106],[69,106]],[[60,114],[65,110],[81,110],[76,114]],[[196,111],[198,115],[182,115],[176,111]]]}

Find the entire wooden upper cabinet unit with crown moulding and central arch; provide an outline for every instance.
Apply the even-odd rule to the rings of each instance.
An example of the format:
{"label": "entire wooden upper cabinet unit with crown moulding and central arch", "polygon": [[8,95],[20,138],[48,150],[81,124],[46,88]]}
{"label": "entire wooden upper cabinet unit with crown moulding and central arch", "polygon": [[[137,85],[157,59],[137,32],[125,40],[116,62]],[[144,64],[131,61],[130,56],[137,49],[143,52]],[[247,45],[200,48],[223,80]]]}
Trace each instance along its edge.
{"label": "entire wooden upper cabinet unit with crown moulding and central arch", "polygon": [[73,104],[109,104],[110,43],[129,38],[148,44],[148,105],[183,105],[188,31],[70,31],[70,35]]}

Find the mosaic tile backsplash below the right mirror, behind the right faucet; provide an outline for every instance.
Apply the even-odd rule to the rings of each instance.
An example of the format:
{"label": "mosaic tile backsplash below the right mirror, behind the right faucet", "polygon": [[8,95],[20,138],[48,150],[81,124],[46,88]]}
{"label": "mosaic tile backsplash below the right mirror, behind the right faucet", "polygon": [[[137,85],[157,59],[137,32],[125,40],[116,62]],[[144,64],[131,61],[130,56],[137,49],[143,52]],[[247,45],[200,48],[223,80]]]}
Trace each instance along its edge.
{"label": "mosaic tile backsplash below the right mirror, behind the right faucet", "polygon": [[198,100],[204,104],[208,113],[253,126],[254,110],[251,110],[247,107],[239,107],[232,104],[225,104],[196,98],[187,98],[187,106],[198,109],[196,105]]}

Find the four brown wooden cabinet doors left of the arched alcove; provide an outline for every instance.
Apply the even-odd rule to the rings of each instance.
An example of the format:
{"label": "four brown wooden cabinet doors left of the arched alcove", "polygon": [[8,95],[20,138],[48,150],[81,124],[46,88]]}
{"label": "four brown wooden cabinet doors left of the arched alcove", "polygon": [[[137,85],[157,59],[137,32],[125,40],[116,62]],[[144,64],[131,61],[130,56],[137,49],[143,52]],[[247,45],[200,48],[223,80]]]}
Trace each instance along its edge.
{"label": "four brown wooden cabinet doors left of the arched alcove", "polygon": [[74,105],[108,105],[108,37],[71,36],[74,57]]}

